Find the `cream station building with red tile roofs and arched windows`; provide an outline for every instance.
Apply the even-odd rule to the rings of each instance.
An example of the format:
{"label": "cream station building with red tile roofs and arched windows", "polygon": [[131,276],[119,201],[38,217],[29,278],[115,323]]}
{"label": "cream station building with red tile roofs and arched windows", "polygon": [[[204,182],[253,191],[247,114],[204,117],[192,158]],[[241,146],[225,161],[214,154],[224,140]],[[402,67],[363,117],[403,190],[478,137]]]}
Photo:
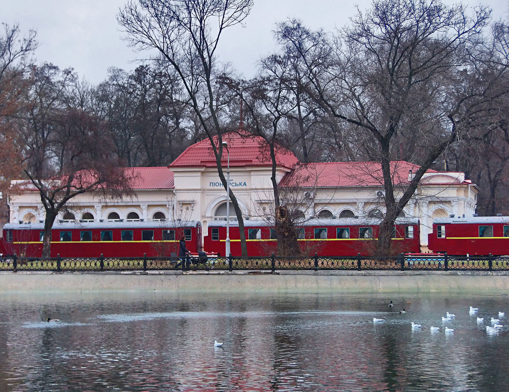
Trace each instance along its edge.
{"label": "cream station building with red tile roofs and arched windows", "polygon": [[[243,131],[222,136],[222,166],[229,168],[233,189],[244,220],[266,219],[273,214],[272,160],[263,138]],[[217,144],[217,137],[215,138]],[[301,163],[282,147],[275,149],[276,180],[288,194],[286,203],[297,205],[305,218],[378,217],[384,213],[384,188],[377,162]],[[405,187],[418,166],[391,162],[395,188]],[[59,220],[137,221],[198,220],[203,233],[208,222],[227,219],[227,192],[217,174],[209,139],[188,147],[174,162],[162,167],[126,168],[133,176],[132,195],[104,200],[99,193],[78,195]],[[429,170],[421,179],[401,216],[420,221],[420,243],[427,249],[428,233],[437,217],[472,216],[478,188],[461,172]],[[11,222],[44,220],[38,191],[27,185],[9,198]],[[230,219],[236,219],[230,205]]]}

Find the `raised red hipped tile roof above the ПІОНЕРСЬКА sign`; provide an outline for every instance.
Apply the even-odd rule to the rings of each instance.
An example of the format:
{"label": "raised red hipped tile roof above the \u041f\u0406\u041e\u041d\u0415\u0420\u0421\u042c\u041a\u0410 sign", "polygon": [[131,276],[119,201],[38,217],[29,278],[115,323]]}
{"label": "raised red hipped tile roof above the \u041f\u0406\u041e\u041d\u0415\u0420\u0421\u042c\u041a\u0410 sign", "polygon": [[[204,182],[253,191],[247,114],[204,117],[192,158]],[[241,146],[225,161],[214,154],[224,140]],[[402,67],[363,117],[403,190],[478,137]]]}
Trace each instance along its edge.
{"label": "raised red hipped tile roof above the \u041f\u0406\u041e\u041d\u0415\u0420\u0421\u042c\u041a\u0410 sign", "polygon": [[[222,141],[228,143],[230,166],[271,166],[270,152],[267,143],[260,136],[253,136],[245,131],[228,132],[222,135]],[[214,136],[218,146],[218,137]],[[228,154],[223,149],[221,162],[227,165]],[[299,162],[289,150],[277,145],[276,162],[278,166],[290,169]],[[209,139],[189,146],[168,167],[216,167],[216,159]]]}

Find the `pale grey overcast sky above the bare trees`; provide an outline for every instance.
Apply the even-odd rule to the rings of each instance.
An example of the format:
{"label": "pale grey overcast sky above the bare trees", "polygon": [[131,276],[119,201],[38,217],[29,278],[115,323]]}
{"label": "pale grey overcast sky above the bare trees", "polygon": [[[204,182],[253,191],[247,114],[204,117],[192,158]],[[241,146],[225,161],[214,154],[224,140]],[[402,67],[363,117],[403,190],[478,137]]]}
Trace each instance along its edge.
{"label": "pale grey overcast sky above the bare trees", "polygon": [[[452,0],[446,1],[453,3]],[[507,0],[485,0],[497,19],[507,16]],[[38,63],[73,67],[80,78],[99,83],[108,67],[133,70],[142,57],[122,40],[116,15],[125,0],[0,0],[0,22],[19,23],[21,31],[37,31]],[[371,1],[356,2],[361,9]],[[470,4],[478,4],[471,0]],[[220,60],[229,61],[245,77],[254,76],[258,59],[274,48],[274,23],[299,18],[326,31],[342,27],[356,13],[345,0],[254,0],[245,27],[227,30],[220,43]]]}

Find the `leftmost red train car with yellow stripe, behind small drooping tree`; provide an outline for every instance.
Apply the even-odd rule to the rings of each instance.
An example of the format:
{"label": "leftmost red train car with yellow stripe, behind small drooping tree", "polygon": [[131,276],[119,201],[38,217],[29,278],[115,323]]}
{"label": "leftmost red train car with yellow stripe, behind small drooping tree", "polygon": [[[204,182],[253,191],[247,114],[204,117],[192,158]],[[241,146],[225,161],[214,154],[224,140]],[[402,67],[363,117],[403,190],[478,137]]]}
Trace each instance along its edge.
{"label": "leftmost red train car with yellow stripe, behind small drooping tree", "polygon": [[[2,253],[41,257],[43,233],[43,223],[7,223]],[[178,254],[182,236],[188,250],[198,251],[202,245],[200,222],[55,222],[51,229],[51,257],[172,256]]]}

